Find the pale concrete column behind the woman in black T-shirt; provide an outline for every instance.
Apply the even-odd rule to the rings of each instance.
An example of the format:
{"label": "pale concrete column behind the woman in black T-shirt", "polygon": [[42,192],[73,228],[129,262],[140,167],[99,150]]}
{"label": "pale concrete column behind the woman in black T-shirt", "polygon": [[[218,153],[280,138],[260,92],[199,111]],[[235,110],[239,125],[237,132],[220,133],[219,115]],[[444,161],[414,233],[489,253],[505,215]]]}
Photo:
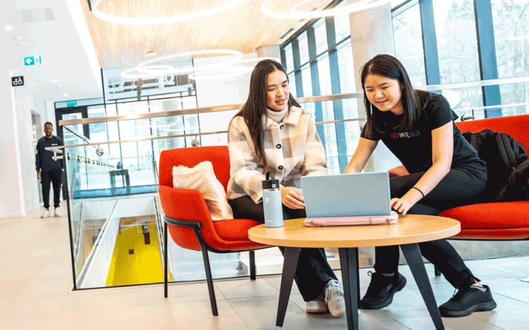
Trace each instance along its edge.
{"label": "pale concrete column behind the woman in black T-shirt", "polygon": [[[359,0],[348,0],[355,3]],[[386,3],[382,6],[351,12],[349,14],[351,28],[352,59],[355,65],[355,81],[357,91],[362,91],[360,80],[360,69],[377,54],[390,54],[395,56],[395,45],[393,43],[393,25],[391,19],[391,5]],[[366,107],[363,99],[359,100],[359,116],[366,117]],[[393,156],[388,148],[379,143],[375,152],[366,164],[366,172],[381,172],[401,165],[399,160]]]}

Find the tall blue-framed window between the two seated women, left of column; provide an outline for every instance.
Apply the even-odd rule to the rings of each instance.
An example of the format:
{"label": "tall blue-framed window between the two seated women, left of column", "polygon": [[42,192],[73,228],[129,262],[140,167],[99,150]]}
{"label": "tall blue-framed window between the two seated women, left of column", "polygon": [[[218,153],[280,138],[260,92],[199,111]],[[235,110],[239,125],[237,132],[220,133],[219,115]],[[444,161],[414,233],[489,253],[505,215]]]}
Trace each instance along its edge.
{"label": "tall blue-framed window between the two seated women, left of column", "polygon": [[[338,4],[338,6],[346,5],[347,1],[345,0]],[[314,38],[307,33],[309,29],[314,31]],[[286,66],[288,72],[292,96],[317,96],[314,95],[314,91],[318,90],[320,95],[356,91],[350,34],[349,14],[341,14],[327,19],[319,19],[297,32],[292,39],[296,40],[299,45],[299,54],[292,52],[292,40],[281,46],[285,60],[283,65]],[[296,59],[295,56],[298,58]],[[298,66],[296,67],[294,63],[297,63]],[[314,67],[317,68],[317,71],[311,70]],[[303,95],[296,93],[295,72],[301,73],[297,75],[297,79],[301,79]],[[318,76],[312,76],[312,72],[318,72]],[[348,100],[337,101],[334,104],[332,102],[304,103],[302,107],[315,116],[316,121],[356,118],[358,113],[356,104],[353,105]],[[345,113],[347,113],[346,116],[344,116]],[[352,113],[354,113],[354,117],[350,116]],[[358,123],[355,124],[358,125]],[[350,143],[352,140],[347,137],[348,134],[355,136],[355,134],[351,134],[349,126],[343,123],[326,124],[318,129],[326,149],[331,172],[341,172],[347,163],[345,155],[352,154],[352,149],[356,147],[357,143]],[[347,149],[339,150],[339,145],[346,146]]]}

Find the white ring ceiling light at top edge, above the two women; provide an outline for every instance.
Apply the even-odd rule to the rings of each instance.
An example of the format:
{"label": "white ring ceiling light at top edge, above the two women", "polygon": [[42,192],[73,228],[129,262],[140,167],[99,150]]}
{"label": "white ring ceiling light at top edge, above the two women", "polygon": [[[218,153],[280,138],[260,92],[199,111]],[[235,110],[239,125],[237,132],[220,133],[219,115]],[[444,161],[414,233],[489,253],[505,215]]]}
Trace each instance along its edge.
{"label": "white ring ceiling light at top edge, above the two women", "polygon": [[381,6],[386,3],[390,3],[392,0],[361,0],[357,3],[352,3],[347,6],[336,7],[326,10],[317,10],[315,12],[296,10],[296,8],[301,6],[303,3],[310,1],[304,0],[292,6],[292,8],[290,8],[290,12],[288,13],[273,12],[272,10],[266,9],[266,4],[270,1],[271,0],[265,0],[261,5],[261,12],[263,12],[263,14],[266,14],[267,16],[275,17],[276,19],[315,19],[320,17],[335,16],[339,14],[348,14],[350,12],[359,12],[361,10],[366,10],[369,8]]}

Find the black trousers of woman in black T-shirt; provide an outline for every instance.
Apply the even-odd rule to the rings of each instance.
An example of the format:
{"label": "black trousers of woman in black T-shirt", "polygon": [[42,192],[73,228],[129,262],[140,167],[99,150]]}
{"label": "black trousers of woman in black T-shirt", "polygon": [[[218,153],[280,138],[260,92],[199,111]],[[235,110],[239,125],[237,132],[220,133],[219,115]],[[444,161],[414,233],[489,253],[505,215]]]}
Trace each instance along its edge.
{"label": "black trousers of woman in black T-shirt", "polygon": [[[415,185],[425,172],[390,178],[391,197],[401,198]],[[408,214],[436,216],[446,209],[472,204],[485,189],[486,181],[461,169],[450,172],[424,198],[413,205]],[[419,243],[421,254],[432,262],[454,287],[474,284],[472,272],[461,256],[446,240]],[[391,274],[399,266],[399,247],[375,247],[375,271]]]}

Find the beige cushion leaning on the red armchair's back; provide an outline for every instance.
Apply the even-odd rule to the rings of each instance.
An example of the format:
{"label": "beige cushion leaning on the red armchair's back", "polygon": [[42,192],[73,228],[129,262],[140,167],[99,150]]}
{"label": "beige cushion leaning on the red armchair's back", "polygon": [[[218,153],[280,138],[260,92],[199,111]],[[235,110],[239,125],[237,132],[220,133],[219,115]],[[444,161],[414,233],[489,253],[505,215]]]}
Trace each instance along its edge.
{"label": "beige cushion leaning on the red armchair's back", "polygon": [[206,200],[213,221],[233,218],[224,187],[215,176],[210,161],[203,161],[192,168],[173,166],[172,185],[177,189],[198,190]]}

